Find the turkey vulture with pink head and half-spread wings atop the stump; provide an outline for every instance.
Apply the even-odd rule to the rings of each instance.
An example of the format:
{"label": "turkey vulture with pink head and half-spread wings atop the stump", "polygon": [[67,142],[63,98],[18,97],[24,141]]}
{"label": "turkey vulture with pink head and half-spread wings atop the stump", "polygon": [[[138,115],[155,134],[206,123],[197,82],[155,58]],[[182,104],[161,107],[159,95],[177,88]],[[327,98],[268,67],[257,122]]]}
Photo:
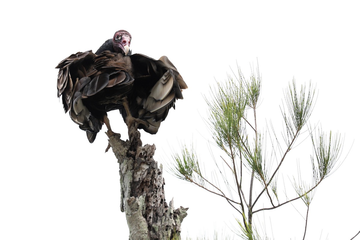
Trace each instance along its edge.
{"label": "turkey vulture with pink head and half-spread wings atop the stump", "polygon": [[128,115],[140,119],[138,128],[155,134],[175,100],[183,99],[187,86],[170,60],[131,55],[130,42],[129,32],[117,31],[95,54],[78,52],[56,67],[58,97],[91,143],[104,123],[111,131],[111,110],[119,109],[124,122]]}

